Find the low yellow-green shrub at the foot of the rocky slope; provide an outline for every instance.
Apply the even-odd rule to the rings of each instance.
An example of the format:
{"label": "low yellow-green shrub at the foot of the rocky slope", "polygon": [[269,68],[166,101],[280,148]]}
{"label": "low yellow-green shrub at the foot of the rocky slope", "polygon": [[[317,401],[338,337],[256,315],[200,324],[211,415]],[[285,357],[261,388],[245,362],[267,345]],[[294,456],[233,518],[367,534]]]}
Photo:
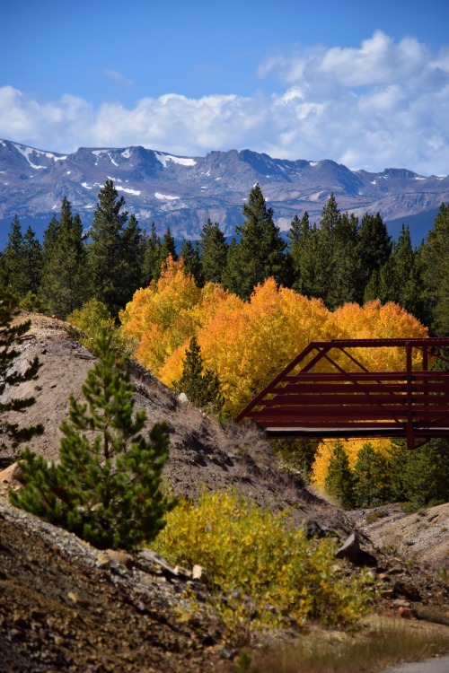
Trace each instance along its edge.
{"label": "low yellow-green shrub at the foot of the rocky slope", "polygon": [[352,625],[366,607],[369,576],[342,581],[330,539],[310,541],[291,512],[260,509],[233,491],[181,500],[153,546],[173,564],[206,569],[225,593],[216,608],[234,634],[308,618]]}

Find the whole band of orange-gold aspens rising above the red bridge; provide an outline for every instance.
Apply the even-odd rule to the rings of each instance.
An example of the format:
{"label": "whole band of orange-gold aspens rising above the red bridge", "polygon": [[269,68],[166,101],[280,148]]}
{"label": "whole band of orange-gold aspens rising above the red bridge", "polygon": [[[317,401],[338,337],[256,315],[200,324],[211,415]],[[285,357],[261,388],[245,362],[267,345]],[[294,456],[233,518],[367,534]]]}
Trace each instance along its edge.
{"label": "whole band of orange-gold aspens rising above the red bridge", "polygon": [[[311,341],[427,335],[427,329],[396,304],[346,304],[331,313],[321,300],[277,287],[273,278],[258,285],[249,302],[219,284],[199,290],[182,263],[171,258],[161,279],[138,290],[120,319],[124,334],[136,339],[137,360],[167,385],[180,379],[189,339],[195,335],[204,365],[218,376],[225,410],[232,415]],[[369,369],[403,365],[398,352],[358,351]]]}

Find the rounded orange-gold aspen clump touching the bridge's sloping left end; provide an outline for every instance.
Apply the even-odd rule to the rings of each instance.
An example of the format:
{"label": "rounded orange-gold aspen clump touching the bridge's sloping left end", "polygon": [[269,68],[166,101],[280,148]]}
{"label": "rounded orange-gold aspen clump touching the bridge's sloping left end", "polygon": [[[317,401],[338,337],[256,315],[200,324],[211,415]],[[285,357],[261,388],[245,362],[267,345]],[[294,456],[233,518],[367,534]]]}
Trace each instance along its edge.
{"label": "rounded orange-gold aspen clump touching the bridge's sloping left end", "polygon": [[199,330],[198,344],[205,365],[221,382],[225,409],[234,414],[308,344],[311,335],[328,337],[329,311],[320,300],[277,288],[273,278],[255,288],[250,302],[226,308]]}

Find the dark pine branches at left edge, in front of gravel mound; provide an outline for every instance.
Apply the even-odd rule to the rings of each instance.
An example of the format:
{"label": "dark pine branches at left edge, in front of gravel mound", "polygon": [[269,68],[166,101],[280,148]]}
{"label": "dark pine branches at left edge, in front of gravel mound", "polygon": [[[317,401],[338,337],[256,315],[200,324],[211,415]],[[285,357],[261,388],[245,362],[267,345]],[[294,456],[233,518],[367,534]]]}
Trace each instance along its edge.
{"label": "dark pine branches at left edge, in front of gravel mound", "polygon": [[[29,363],[22,373],[14,371],[13,363],[19,355],[17,345],[31,326],[30,320],[12,325],[13,318],[19,314],[17,297],[8,289],[0,286],[0,449],[5,448],[5,441],[17,447],[22,441],[30,441],[35,434],[43,432],[41,424],[19,427],[6,420],[9,412],[26,412],[35,402],[34,398],[13,398],[10,388],[18,386],[38,377],[40,363],[37,357]],[[5,397],[4,393],[8,397]],[[9,398],[9,399],[8,399]]]}

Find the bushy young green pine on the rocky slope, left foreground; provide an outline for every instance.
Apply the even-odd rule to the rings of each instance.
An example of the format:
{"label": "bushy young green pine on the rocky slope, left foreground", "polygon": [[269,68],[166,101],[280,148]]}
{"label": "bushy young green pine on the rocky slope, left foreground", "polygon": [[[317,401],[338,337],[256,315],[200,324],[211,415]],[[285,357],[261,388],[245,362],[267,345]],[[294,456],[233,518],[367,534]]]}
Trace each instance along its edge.
{"label": "bushy young green pine on the rocky slope, left foreground", "polygon": [[59,461],[23,451],[25,485],[10,497],[93,546],[132,549],[155,538],[173,505],[161,488],[169,435],[164,422],[149,440],[143,434],[145,411],[134,414],[133,386],[110,339],[103,331],[97,342],[85,402],[70,398]]}

